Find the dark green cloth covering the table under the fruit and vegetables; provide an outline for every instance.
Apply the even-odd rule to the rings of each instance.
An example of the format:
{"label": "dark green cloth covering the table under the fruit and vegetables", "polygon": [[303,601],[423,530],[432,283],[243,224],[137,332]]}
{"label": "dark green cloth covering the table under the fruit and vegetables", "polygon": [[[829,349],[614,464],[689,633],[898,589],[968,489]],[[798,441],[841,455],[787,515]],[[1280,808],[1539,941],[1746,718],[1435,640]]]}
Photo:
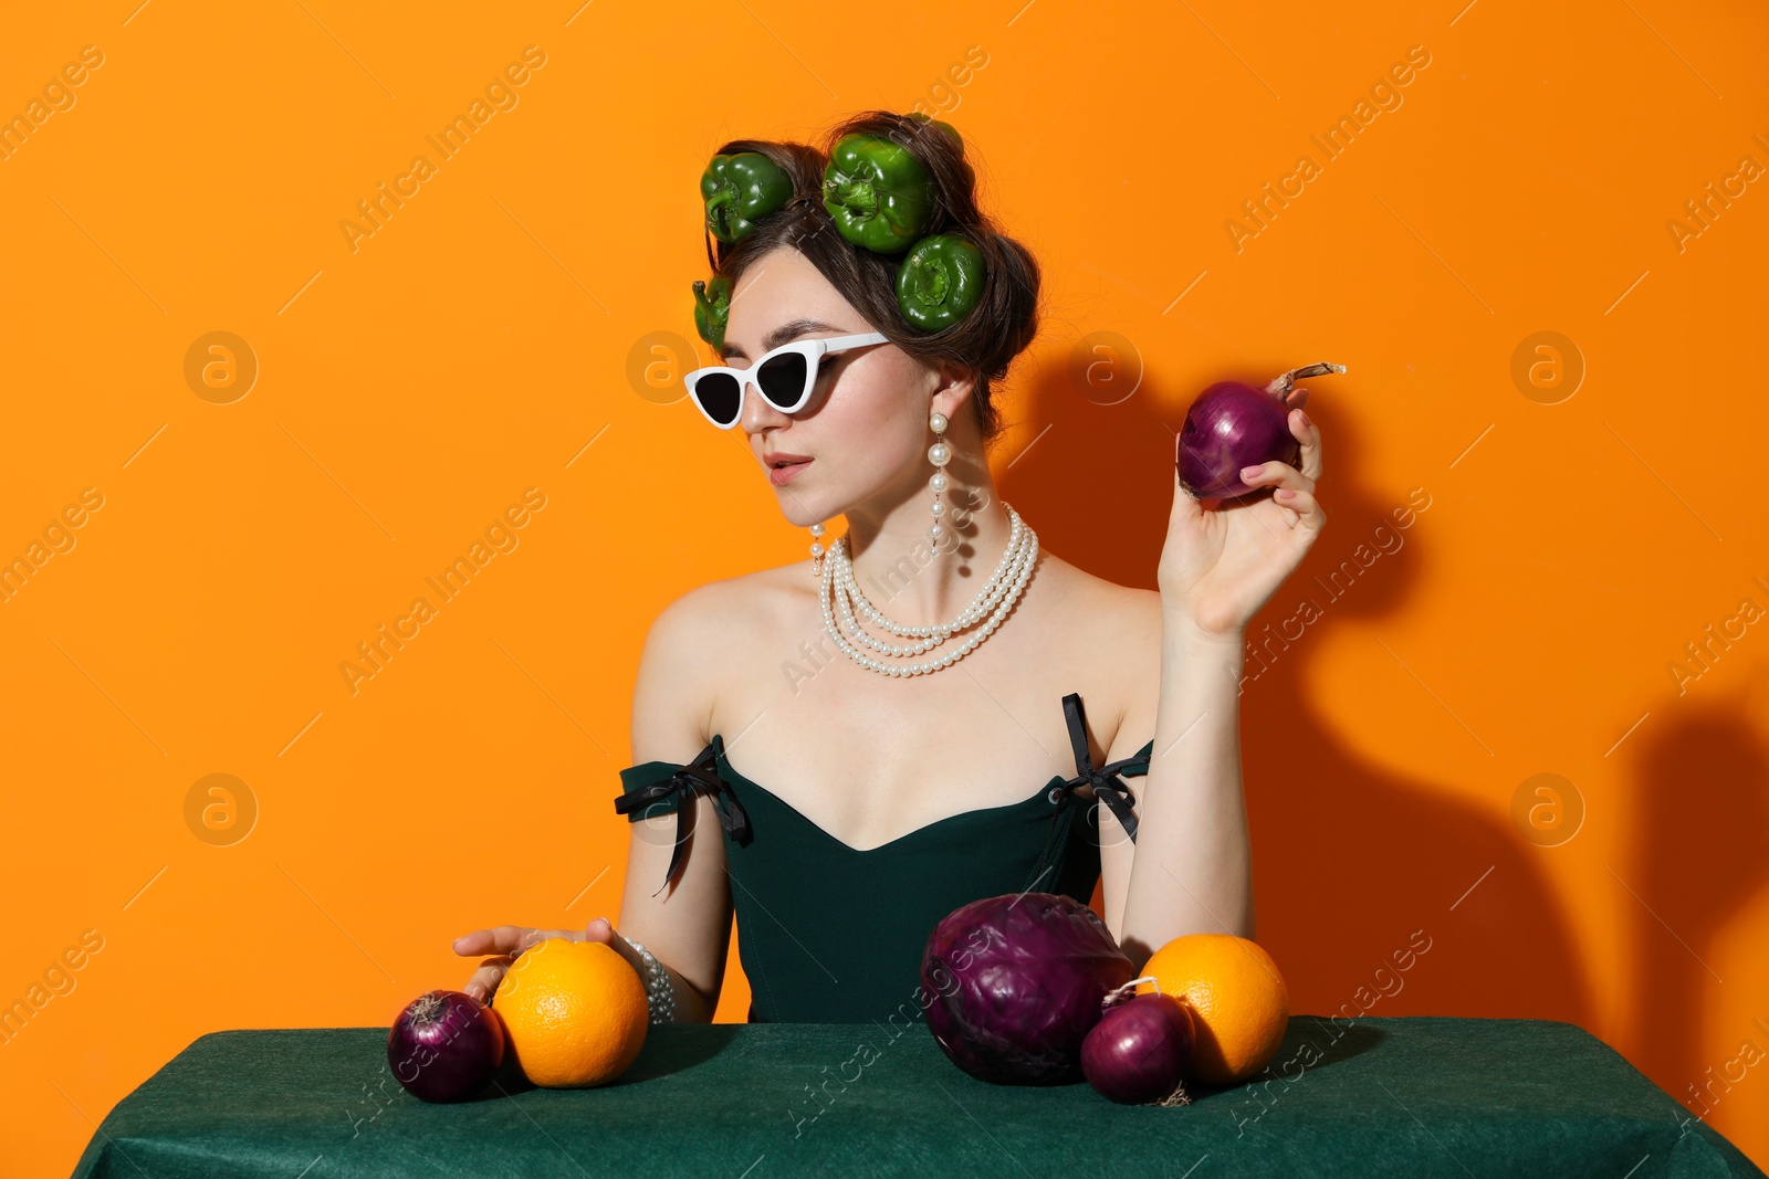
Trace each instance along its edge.
{"label": "dark green cloth covering the table under the fruit and vegetables", "polygon": [[504,1089],[417,1101],[386,1069],[384,1029],[212,1032],[111,1110],[74,1174],[1764,1174],[1603,1041],[1548,1020],[1298,1015],[1272,1080],[1175,1108],[989,1085],[920,1023],[663,1025],[614,1085]]}

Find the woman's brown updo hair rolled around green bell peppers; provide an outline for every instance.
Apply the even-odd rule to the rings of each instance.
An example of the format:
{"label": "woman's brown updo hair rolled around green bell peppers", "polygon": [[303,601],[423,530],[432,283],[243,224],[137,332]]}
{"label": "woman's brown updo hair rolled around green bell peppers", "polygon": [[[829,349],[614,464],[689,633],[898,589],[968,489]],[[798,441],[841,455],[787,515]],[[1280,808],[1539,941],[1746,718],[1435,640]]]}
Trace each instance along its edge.
{"label": "woman's brown updo hair rolled around green bell peppers", "polygon": [[[984,255],[987,270],[982,300],[957,323],[927,332],[909,323],[897,306],[900,255],[876,255],[840,235],[823,207],[823,170],[830,150],[847,134],[874,134],[907,148],[934,179],[934,217],[925,233],[961,233]],[[741,240],[716,242],[708,235],[713,274],[738,278],[764,253],[791,246],[842,292],[865,320],[909,355],[953,361],[976,373],[971,405],[984,444],[1005,428],[991,385],[1007,377],[1008,364],[1038,334],[1038,263],[976,207],[976,173],[964,148],[932,122],[890,111],[863,111],[833,127],[824,145],[731,140],[718,154],[761,152],[793,179],[793,198],[777,212],[755,221]],[[713,247],[716,246],[716,255]]]}

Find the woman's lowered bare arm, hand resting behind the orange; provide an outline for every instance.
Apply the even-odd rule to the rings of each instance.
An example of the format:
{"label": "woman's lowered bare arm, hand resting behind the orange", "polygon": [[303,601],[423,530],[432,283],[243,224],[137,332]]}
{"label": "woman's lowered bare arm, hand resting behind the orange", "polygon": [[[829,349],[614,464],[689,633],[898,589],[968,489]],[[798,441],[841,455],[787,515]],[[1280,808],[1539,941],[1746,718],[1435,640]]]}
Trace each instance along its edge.
{"label": "woman's lowered bare arm, hand resting behind the orange", "polygon": [[[686,764],[711,741],[722,617],[718,599],[727,592],[722,583],[690,590],[651,624],[633,686],[635,765],[653,760]],[[644,977],[639,953],[628,944],[633,939],[669,972],[676,1022],[711,1023],[731,949],[731,880],[711,799],[697,794],[681,806],[693,808],[683,836],[681,868],[676,882],[656,896],[651,893],[663,884],[676,847],[676,813],[630,824],[619,932],[605,917],[577,932],[511,924],[476,930],[455,942],[455,953],[495,956],[479,965],[465,990],[490,1002],[515,956],[545,937],[607,942]],[[610,818],[626,822],[614,815],[612,792],[607,808]]]}

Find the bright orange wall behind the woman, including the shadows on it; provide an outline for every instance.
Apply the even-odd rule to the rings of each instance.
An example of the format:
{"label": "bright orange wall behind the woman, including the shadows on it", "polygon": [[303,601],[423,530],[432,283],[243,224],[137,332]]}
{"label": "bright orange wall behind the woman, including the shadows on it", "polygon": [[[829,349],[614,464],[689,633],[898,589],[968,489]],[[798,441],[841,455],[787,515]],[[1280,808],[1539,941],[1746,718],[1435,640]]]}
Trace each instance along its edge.
{"label": "bright orange wall behind the woman, including the shadows on it", "polygon": [[[1242,698],[1295,1009],[1571,1020],[1681,1098],[1769,1050],[1760,7],[136,4],[0,39],[0,113],[103,57],[0,161],[0,557],[46,557],[0,603],[0,1000],[101,939],[0,1046],[21,1174],[65,1174],[202,1032],[387,1023],[465,981],[458,933],[617,912],[647,624],[807,544],[739,435],[646,384],[655,332],[699,346],[701,166],[916,101],[1045,267],[994,463],[1053,551],[1153,587],[1191,396],[1350,368],[1311,385],[1330,525]],[[517,104],[440,159],[425,136],[525,46]],[[1311,134],[1413,46],[1329,159]],[[246,396],[186,377],[218,331]],[[529,488],[517,548],[440,601],[425,578]],[[437,615],[352,691],[417,596]],[[1735,638],[1704,666],[1709,624]],[[257,811],[230,845],[244,820],[188,808],[209,774]],[[747,999],[732,974],[720,1018]],[[1758,1163],[1765,1114],[1769,1068],[1709,1103]]]}

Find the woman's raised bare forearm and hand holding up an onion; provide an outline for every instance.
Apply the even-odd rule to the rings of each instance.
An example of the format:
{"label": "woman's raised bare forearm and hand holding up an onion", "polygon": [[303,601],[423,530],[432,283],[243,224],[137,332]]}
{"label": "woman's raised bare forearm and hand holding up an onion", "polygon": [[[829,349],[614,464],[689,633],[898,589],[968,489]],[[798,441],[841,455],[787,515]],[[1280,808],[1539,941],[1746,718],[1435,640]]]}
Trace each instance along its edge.
{"label": "woman's raised bare forearm and hand holding up an onion", "polygon": [[[1129,882],[1114,928],[1141,963],[1183,933],[1252,937],[1252,847],[1240,776],[1240,679],[1252,615],[1302,564],[1327,516],[1314,498],[1320,430],[1291,389],[1290,430],[1302,468],[1247,468],[1242,481],[1275,488],[1252,502],[1205,507],[1175,474],[1173,514],[1160,551],[1160,688],[1134,845],[1109,859]],[[1146,730],[1132,730],[1146,732]],[[1102,811],[1102,818],[1106,811]],[[1116,820],[1111,822],[1116,827]],[[1109,882],[1107,882],[1107,891]]]}

